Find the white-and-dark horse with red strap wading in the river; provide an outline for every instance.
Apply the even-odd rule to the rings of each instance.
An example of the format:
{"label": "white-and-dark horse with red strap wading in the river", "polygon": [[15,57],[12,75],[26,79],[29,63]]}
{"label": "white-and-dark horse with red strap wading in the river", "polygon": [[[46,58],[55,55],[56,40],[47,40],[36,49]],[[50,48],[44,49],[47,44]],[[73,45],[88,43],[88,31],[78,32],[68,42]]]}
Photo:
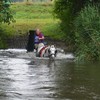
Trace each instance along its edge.
{"label": "white-and-dark horse with red strap wading in the river", "polygon": [[38,48],[36,50],[37,57],[49,57],[50,59],[54,59],[57,55],[57,49],[54,45],[44,45],[43,43],[38,44]]}

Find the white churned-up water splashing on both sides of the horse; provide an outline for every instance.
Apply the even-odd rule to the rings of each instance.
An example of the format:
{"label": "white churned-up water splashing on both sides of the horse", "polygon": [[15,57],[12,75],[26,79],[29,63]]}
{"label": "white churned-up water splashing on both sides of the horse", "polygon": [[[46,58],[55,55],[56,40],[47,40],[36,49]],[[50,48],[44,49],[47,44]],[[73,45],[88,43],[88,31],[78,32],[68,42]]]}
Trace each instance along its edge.
{"label": "white churned-up water splashing on both sides of the horse", "polygon": [[[9,56],[15,55],[18,58],[36,58],[36,59],[48,59],[48,58],[40,58],[36,57],[35,52],[29,52],[27,53],[26,49],[6,49],[6,50],[0,50],[3,54],[6,53]],[[74,55],[72,53],[64,53],[64,50],[61,50],[61,52],[57,53],[56,59],[74,59]]]}

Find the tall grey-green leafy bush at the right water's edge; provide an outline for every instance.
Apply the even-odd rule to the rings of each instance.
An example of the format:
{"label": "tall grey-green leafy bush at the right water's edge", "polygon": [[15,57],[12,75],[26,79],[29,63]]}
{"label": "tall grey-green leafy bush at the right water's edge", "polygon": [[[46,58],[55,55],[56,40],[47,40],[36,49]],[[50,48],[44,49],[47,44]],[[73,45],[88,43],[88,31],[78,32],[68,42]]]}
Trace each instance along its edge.
{"label": "tall grey-green leafy bush at the right water's edge", "polygon": [[77,60],[100,60],[100,11],[88,5],[74,21]]}

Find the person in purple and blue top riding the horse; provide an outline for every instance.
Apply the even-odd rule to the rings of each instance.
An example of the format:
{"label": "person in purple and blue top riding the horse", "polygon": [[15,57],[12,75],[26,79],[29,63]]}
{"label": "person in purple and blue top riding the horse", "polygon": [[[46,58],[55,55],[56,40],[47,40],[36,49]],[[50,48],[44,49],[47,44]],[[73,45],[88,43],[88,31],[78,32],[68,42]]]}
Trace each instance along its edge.
{"label": "person in purple and blue top riding the horse", "polygon": [[37,50],[39,43],[44,43],[44,35],[43,35],[43,33],[40,32],[39,29],[36,29],[34,43],[35,43],[35,49],[36,50]]}

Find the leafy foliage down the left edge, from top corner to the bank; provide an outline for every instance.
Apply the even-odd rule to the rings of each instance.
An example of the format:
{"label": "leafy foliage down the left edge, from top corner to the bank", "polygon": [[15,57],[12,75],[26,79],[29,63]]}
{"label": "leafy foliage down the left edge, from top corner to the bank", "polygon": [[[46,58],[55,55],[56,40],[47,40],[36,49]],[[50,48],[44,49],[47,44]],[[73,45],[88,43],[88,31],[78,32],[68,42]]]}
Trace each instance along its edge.
{"label": "leafy foliage down the left edge, from top corner to the bank", "polygon": [[10,0],[1,0],[0,1],[0,48],[5,48],[6,43],[4,37],[7,36],[5,34],[5,30],[2,28],[1,23],[8,23],[13,21],[13,16],[10,10]]}

